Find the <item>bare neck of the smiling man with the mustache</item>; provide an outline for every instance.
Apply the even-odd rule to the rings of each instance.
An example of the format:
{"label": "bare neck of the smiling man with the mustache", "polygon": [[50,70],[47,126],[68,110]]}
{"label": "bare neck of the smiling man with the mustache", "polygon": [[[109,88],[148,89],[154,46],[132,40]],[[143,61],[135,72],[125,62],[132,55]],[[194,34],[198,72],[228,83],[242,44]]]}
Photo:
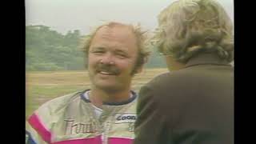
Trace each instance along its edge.
{"label": "bare neck of the smiling man with the mustache", "polygon": [[103,102],[123,102],[130,98],[130,90],[122,90],[122,91],[106,91],[106,90],[98,90],[92,89],[89,94],[90,102],[97,106],[98,108],[102,108]]}

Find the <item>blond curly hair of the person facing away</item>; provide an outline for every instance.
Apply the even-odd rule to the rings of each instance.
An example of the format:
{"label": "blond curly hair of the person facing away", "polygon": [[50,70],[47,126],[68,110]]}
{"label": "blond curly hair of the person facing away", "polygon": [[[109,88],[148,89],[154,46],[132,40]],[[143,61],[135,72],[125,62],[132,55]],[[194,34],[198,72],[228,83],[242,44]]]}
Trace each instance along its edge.
{"label": "blond curly hair of the person facing away", "polygon": [[187,62],[201,51],[216,52],[227,62],[234,59],[233,24],[214,0],[173,2],[158,15],[158,23],[151,43],[178,62]]}

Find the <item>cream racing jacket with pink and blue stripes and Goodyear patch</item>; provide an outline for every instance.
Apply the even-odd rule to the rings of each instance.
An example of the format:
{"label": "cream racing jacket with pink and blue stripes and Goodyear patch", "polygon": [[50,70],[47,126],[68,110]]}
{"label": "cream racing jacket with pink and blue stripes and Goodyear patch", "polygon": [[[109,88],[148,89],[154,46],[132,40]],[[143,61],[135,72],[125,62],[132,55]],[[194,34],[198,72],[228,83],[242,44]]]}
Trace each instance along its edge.
{"label": "cream racing jacket with pink and blue stripes and Goodyear patch", "polygon": [[28,144],[131,144],[137,94],[126,102],[104,102],[96,118],[87,90],[44,103],[26,121]]}

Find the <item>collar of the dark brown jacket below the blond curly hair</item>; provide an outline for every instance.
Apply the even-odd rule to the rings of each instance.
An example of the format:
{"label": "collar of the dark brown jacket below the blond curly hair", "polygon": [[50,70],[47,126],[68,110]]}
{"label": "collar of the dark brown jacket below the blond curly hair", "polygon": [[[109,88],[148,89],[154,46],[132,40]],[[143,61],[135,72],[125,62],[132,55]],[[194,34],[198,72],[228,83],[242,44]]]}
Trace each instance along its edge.
{"label": "collar of the dark brown jacket below the blond curly hair", "polygon": [[186,62],[185,67],[196,66],[196,65],[226,65],[231,66],[229,62],[218,57],[217,54],[213,53],[200,53],[193,58],[190,58]]}

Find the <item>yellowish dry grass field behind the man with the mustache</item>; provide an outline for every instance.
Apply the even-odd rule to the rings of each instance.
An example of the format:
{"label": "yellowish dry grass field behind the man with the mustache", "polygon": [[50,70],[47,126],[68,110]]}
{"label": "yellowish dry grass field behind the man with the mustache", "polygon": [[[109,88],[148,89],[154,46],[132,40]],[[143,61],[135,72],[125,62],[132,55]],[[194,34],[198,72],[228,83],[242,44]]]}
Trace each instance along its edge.
{"label": "yellowish dry grass field behind the man with the mustache", "polygon": [[[154,76],[166,72],[167,69],[146,69],[136,74],[132,82],[132,90],[140,87]],[[52,98],[78,90],[90,88],[86,71],[47,71],[26,73],[26,118],[38,106]]]}

